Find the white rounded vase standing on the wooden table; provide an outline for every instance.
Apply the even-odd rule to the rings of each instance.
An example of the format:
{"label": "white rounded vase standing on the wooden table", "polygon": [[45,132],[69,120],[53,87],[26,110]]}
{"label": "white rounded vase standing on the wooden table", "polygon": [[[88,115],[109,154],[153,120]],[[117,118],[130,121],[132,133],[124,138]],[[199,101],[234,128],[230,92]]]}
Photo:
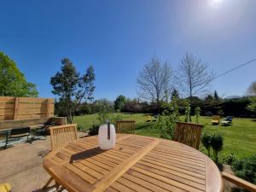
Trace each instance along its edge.
{"label": "white rounded vase standing on the wooden table", "polygon": [[114,125],[110,125],[109,136],[110,137],[108,137],[108,125],[101,125],[98,134],[100,148],[106,150],[114,147],[116,137]]}

